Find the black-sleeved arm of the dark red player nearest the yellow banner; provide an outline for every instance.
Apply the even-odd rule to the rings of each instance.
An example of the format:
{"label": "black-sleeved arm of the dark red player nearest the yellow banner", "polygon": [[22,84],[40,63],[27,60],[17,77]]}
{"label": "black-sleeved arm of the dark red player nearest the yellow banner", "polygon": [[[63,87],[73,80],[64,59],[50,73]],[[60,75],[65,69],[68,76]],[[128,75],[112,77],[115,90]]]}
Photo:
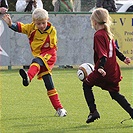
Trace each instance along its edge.
{"label": "black-sleeved arm of the dark red player nearest the yellow banner", "polygon": [[127,65],[131,62],[131,59],[129,57],[125,57],[124,54],[122,54],[117,47],[116,56]]}

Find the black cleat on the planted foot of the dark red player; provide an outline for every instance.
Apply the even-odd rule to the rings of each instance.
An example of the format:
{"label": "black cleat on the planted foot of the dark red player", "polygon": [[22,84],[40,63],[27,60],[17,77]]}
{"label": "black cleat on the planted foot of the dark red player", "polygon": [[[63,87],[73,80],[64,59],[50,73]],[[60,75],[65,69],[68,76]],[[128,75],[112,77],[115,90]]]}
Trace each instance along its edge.
{"label": "black cleat on the planted foot of the dark red player", "polygon": [[97,110],[94,112],[94,113],[90,113],[87,120],[86,120],[86,123],[91,123],[91,122],[94,122],[94,120],[96,119],[99,119],[100,118],[100,115],[99,113],[97,112]]}

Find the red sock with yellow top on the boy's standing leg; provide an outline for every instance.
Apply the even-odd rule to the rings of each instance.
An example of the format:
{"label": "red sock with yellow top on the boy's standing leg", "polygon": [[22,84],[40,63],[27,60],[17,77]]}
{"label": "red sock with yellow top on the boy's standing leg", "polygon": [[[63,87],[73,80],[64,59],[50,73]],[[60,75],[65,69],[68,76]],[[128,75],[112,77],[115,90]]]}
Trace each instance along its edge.
{"label": "red sock with yellow top on the boy's standing leg", "polygon": [[57,110],[58,108],[63,108],[63,106],[60,103],[56,89],[48,91],[47,94],[55,110]]}

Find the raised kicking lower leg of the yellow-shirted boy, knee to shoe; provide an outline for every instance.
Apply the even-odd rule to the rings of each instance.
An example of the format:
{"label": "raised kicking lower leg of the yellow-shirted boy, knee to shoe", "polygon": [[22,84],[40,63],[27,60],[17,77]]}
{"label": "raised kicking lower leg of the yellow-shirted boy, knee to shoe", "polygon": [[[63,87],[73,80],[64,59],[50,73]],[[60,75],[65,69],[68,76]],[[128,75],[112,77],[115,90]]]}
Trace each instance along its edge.
{"label": "raised kicking lower leg of the yellow-shirted boy, knee to shoe", "polygon": [[23,79],[24,86],[29,85],[30,81],[40,71],[40,66],[43,66],[43,65],[44,63],[40,58],[34,58],[27,72],[24,69],[19,70],[19,74]]}

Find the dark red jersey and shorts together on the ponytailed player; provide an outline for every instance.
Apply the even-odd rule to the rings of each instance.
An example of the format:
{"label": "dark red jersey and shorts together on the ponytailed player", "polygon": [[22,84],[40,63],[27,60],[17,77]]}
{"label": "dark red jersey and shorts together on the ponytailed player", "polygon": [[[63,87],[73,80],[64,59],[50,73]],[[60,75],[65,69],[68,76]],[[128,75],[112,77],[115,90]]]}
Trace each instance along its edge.
{"label": "dark red jersey and shorts together on the ponytailed player", "polygon": [[[103,56],[107,58],[104,66],[104,70],[106,71],[105,77],[97,71],[100,59]],[[98,30],[94,34],[94,63],[95,70],[87,77],[90,85],[97,85],[109,90],[111,88],[108,86],[109,84],[117,84],[121,80],[120,67],[116,61],[116,46],[114,41],[109,39],[104,29]],[[105,85],[105,83],[107,84]]]}

